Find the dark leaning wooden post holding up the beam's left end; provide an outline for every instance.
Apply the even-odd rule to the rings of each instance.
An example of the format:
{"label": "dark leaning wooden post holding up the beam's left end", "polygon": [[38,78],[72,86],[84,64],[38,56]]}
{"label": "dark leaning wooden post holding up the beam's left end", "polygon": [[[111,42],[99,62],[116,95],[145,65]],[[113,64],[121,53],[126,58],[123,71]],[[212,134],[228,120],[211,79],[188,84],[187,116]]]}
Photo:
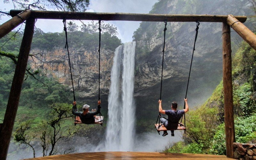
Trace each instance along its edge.
{"label": "dark leaning wooden post holding up the beam's left end", "polygon": [[35,19],[29,18],[26,21],[24,35],[22,38],[20,53],[12,80],[12,87],[7,103],[4,122],[0,129],[0,159],[6,159],[9,143],[12,137],[12,129],[18,110],[21,87],[28,63],[30,46],[34,34]]}

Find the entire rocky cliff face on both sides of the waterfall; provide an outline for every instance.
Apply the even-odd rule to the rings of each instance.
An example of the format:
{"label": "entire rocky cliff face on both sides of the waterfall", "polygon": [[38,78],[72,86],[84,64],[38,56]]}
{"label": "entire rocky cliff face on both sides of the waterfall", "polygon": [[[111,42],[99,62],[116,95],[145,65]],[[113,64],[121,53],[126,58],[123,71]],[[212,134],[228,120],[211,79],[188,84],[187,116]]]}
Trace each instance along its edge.
{"label": "entire rocky cliff face on both sides of the waterfall", "polygon": [[[250,15],[253,13],[248,7],[249,4],[247,0],[160,0],[152,7],[150,13]],[[245,25],[250,28],[251,22],[246,22]],[[221,27],[221,23],[200,23],[188,91],[188,97],[193,98],[195,104],[206,100],[222,77]],[[177,99],[182,104],[181,97],[185,96],[195,28],[195,22],[168,22],[162,91],[162,99],[165,101]],[[163,29],[164,22],[142,22],[140,28],[134,32],[133,37],[136,41],[134,95],[137,105],[145,103],[151,106],[151,103],[159,98]],[[232,43],[235,43],[237,34],[231,32],[231,37]],[[239,41],[241,39],[238,38]],[[34,60],[39,64],[38,66],[46,68],[44,73],[58,78],[60,83],[68,84],[72,89],[66,49],[54,48],[52,51],[33,49],[31,52],[42,54],[41,59],[43,58],[45,63]],[[100,88],[101,94],[106,96],[109,92],[113,56],[113,51],[101,49]],[[98,46],[70,48],[70,58],[75,91],[80,97],[96,96]]]}

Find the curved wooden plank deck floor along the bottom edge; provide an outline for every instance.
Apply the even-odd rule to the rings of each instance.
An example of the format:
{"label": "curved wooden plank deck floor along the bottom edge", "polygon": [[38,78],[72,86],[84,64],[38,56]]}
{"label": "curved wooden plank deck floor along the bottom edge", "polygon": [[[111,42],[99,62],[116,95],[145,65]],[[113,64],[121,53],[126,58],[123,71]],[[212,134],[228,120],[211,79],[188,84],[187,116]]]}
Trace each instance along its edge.
{"label": "curved wooden plank deck floor along the bottom edge", "polygon": [[228,160],[226,156],[203,155],[203,154],[185,154],[185,153],[160,153],[160,152],[90,152],[90,153],[73,153],[67,155],[54,155],[45,157],[30,158],[29,160],[45,159],[215,159]]}

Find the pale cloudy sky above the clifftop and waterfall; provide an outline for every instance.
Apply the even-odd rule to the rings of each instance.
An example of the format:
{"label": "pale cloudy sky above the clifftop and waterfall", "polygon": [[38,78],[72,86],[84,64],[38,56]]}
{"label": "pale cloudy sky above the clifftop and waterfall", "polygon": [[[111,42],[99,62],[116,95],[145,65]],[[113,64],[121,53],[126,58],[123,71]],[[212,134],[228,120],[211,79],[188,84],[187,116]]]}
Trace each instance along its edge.
{"label": "pale cloudy sky above the clifftop and waterfall", "polygon": [[[124,12],[124,13],[148,13],[152,6],[158,0],[90,0],[87,12]],[[12,4],[4,4],[0,0],[0,8],[7,11],[13,9]],[[0,24],[9,20],[11,17],[2,17]],[[79,27],[82,25],[80,21],[74,21]],[[84,21],[87,24],[90,21]],[[117,27],[117,37],[123,43],[132,41],[133,32],[140,26],[137,21],[104,21],[104,23],[113,24]],[[36,27],[44,32],[62,32],[62,20],[43,20],[36,21]],[[17,27],[18,29],[20,27]]]}

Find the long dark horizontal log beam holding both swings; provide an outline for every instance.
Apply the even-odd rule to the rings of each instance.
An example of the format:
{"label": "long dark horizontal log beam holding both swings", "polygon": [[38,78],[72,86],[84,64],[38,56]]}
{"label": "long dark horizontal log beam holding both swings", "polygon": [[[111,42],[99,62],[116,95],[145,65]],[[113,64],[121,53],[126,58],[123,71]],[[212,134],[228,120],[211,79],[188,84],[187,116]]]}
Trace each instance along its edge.
{"label": "long dark horizontal log beam holding both swings", "polygon": [[[11,10],[15,16],[22,10]],[[192,14],[138,14],[138,13],[100,13],[100,12],[60,12],[31,10],[31,17],[36,19],[67,19],[67,20],[126,20],[126,21],[164,21],[168,22],[226,22],[224,15],[192,15]],[[245,22],[246,16],[235,16]]]}

